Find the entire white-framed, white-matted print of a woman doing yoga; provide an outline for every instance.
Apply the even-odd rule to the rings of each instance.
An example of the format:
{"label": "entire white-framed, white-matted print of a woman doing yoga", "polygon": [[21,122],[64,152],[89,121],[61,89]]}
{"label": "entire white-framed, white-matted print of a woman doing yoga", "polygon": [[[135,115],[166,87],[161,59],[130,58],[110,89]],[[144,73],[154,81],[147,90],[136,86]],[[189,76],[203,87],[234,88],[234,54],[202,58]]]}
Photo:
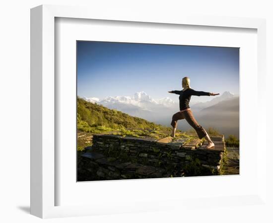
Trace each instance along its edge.
{"label": "entire white-framed, white-matted print of a woman doing yoga", "polygon": [[263,19],[31,9],[31,214],[262,204],[264,38]]}

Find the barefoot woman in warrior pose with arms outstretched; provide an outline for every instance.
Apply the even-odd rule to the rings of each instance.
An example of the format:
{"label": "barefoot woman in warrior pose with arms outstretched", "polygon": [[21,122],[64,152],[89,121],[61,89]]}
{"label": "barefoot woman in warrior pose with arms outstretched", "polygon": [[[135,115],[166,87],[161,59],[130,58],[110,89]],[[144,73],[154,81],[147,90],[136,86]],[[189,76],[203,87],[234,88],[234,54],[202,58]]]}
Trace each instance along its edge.
{"label": "barefoot woman in warrior pose with arms outstretched", "polygon": [[177,127],[177,121],[180,119],[186,119],[187,122],[196,130],[198,137],[202,139],[205,137],[207,140],[208,145],[206,148],[211,148],[214,146],[214,143],[211,141],[209,138],[208,134],[206,133],[205,129],[196,121],[193,112],[190,109],[189,103],[191,100],[191,96],[215,96],[219,94],[214,94],[214,93],[209,93],[209,92],[204,92],[204,91],[195,91],[190,87],[190,78],[189,77],[184,77],[182,79],[182,91],[168,91],[169,93],[174,93],[179,96],[179,107],[180,111],[175,113],[172,117],[172,122],[171,125],[173,127],[172,131],[172,137],[175,137],[175,131]]}

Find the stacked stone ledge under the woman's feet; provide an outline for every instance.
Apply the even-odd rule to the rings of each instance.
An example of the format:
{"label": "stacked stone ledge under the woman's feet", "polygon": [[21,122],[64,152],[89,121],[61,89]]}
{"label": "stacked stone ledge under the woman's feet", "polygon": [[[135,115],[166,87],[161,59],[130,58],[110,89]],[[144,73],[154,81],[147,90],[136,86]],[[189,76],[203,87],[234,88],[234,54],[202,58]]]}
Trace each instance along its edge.
{"label": "stacked stone ledge under the woman's feet", "polygon": [[[185,143],[186,137],[156,140],[96,134],[93,136],[93,146],[86,148],[86,153],[81,155],[83,165],[80,168],[99,179],[169,177],[172,171],[177,172],[177,168],[183,169],[198,159],[203,167],[218,171],[225,144],[223,136],[211,139],[215,147],[206,149],[206,142],[196,138]],[[96,171],[92,171],[93,167],[97,168]]]}

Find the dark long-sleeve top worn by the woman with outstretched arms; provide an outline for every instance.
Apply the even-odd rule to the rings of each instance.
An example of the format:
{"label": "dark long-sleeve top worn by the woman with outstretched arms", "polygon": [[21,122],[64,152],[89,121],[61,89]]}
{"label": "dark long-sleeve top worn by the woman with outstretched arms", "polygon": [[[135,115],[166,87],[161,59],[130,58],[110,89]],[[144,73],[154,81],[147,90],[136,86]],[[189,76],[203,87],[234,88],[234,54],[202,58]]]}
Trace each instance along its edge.
{"label": "dark long-sleeve top worn by the woman with outstretched arms", "polygon": [[192,95],[195,95],[195,96],[209,96],[209,92],[195,91],[192,88],[188,88],[185,91],[171,91],[171,93],[180,95],[179,96],[180,111],[190,108],[189,103],[190,103]]}

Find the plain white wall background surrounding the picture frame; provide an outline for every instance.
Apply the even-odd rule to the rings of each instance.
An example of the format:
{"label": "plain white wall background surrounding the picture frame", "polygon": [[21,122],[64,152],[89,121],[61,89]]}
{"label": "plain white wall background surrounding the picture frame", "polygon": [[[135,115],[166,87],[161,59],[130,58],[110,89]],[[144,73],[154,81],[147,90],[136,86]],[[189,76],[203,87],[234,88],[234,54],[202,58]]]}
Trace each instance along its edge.
{"label": "plain white wall background surrounding the picture frame", "polygon": [[[30,8],[40,4],[89,5],[103,9],[133,8],[166,14],[192,11],[209,15],[267,18],[268,114],[272,111],[273,6],[270,0],[5,0],[0,3],[0,222],[273,222],[273,206],[200,209],[195,212],[154,212],[41,220],[29,214],[30,196]],[[255,118],[255,116],[254,116]],[[272,118],[268,115],[267,134]],[[251,137],[251,136],[250,136]],[[269,144],[268,144],[269,145]],[[273,149],[269,145],[268,149]],[[268,176],[273,173],[272,151]],[[272,179],[269,198],[273,201]],[[201,185],[202,186],[202,185]],[[272,203],[271,203],[272,204]]]}

